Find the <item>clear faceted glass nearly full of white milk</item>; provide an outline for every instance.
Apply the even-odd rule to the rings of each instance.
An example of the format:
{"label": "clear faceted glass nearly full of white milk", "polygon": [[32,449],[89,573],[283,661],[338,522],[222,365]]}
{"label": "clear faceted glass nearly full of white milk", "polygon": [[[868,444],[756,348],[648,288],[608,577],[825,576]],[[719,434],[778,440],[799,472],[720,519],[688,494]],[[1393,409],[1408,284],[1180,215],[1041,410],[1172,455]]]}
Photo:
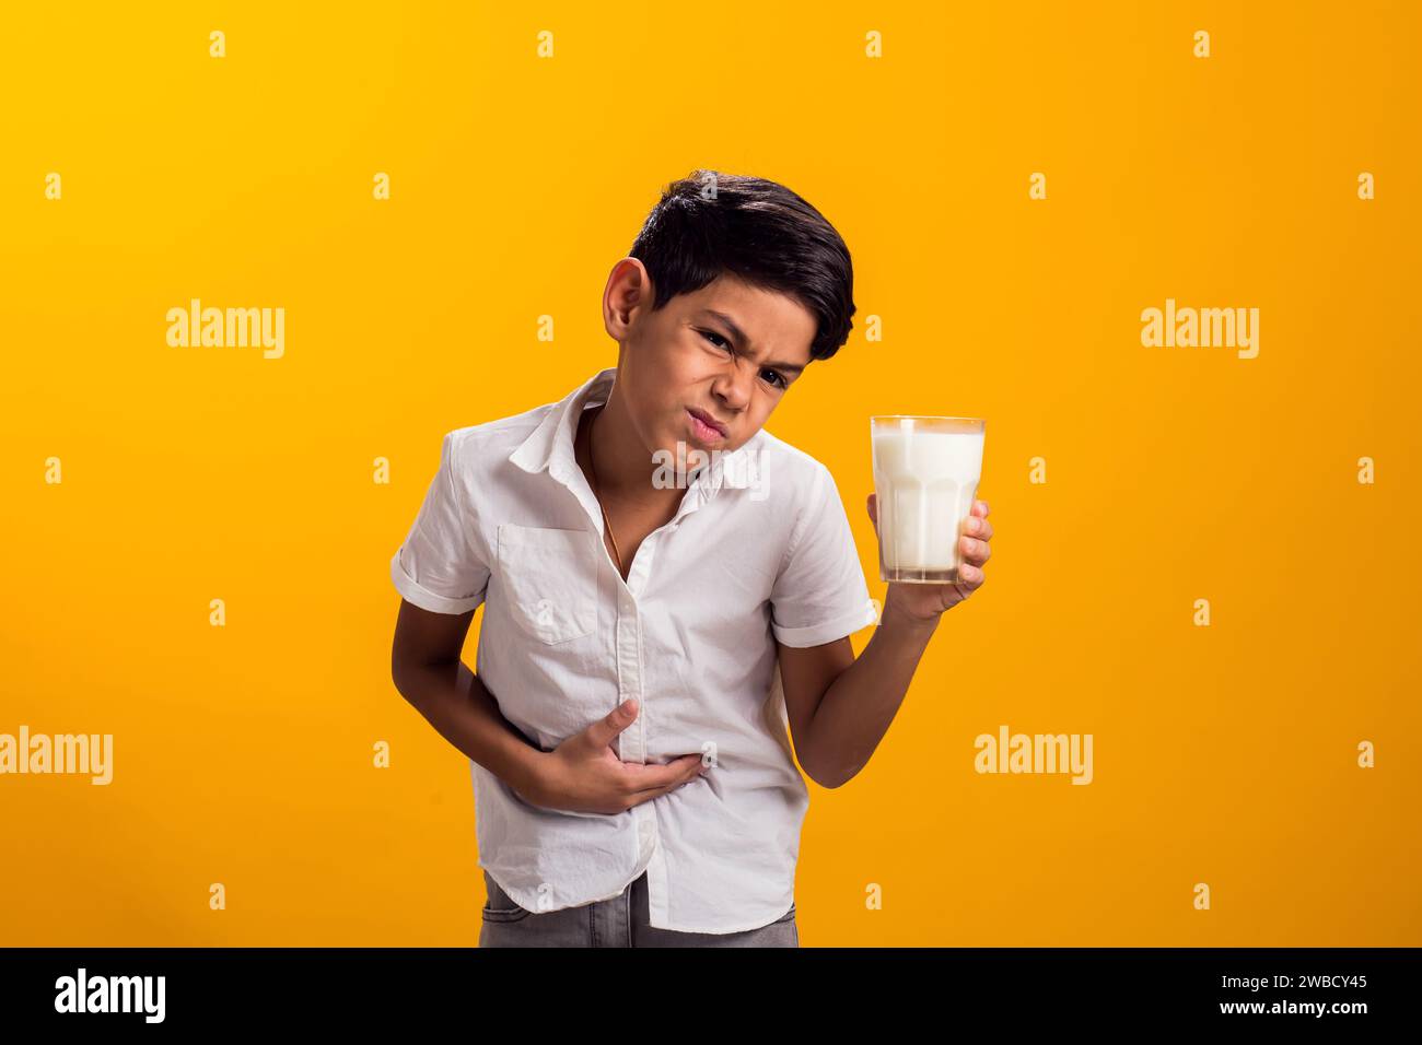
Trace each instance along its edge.
{"label": "clear faceted glass nearly full of white milk", "polygon": [[879,579],[951,584],[983,473],[981,418],[872,417]]}

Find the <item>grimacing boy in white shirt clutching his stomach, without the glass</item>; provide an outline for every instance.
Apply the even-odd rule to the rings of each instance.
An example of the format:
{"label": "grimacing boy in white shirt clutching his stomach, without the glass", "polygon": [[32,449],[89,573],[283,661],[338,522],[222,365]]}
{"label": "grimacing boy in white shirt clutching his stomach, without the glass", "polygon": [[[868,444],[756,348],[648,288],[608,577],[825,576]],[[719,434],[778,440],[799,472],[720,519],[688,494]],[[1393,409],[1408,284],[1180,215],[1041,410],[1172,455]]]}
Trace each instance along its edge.
{"label": "grimacing boy in white shirt clutching his stomach, without the glass", "polygon": [[865,766],[991,537],[975,502],[960,580],[890,584],[855,658],[879,614],[835,481],[762,428],[852,289],[798,195],[694,172],[609,276],[616,368],[444,436],[391,560],[392,674],[471,761],[481,945],[799,944],[793,759]]}

